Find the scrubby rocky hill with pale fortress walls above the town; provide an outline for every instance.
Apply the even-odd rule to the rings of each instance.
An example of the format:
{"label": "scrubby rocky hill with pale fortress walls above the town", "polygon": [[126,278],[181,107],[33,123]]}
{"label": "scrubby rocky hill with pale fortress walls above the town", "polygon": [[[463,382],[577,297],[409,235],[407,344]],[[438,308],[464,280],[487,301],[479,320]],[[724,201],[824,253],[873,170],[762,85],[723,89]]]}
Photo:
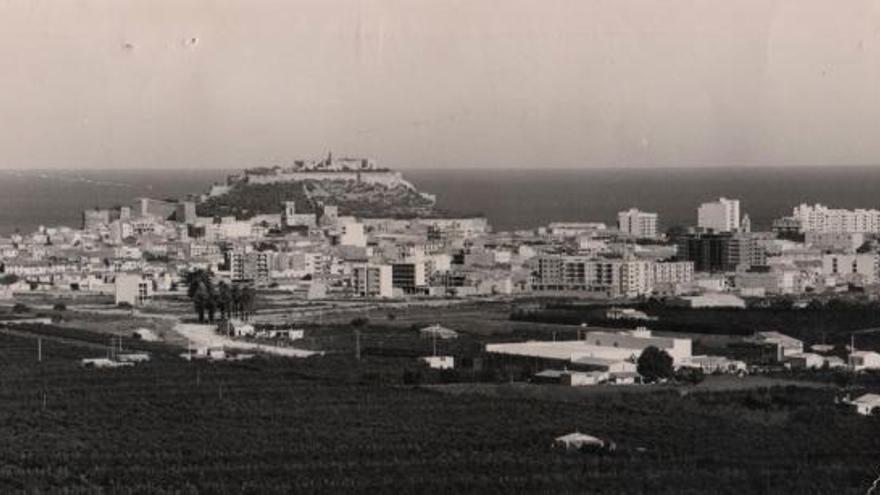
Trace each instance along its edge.
{"label": "scrubby rocky hill with pale fortress walls above the town", "polygon": [[303,180],[275,184],[236,184],[226,194],[208,198],[196,208],[199,216],[281,213],[284,201],[295,201],[297,212],[315,211],[323,203],[339,207],[340,215],[359,217],[432,216],[434,202],[405,186],[389,187],[352,180]]}

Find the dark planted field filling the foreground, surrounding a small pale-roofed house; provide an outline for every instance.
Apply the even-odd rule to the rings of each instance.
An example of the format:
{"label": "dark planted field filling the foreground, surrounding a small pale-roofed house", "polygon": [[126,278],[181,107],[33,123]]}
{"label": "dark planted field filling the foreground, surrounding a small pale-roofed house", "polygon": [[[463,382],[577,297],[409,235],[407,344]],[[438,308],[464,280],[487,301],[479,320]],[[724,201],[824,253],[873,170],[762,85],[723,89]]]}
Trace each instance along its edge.
{"label": "dark planted field filling the foreground, surrounding a small pale-roofed house", "polygon": [[[382,351],[429,346],[383,327],[364,329],[360,361],[336,327],[312,340],[321,358],[190,363],[125,340],[154,361],[96,370],[78,359],[104,336],[28,331],[42,363],[34,338],[0,331],[3,493],[861,494],[880,467],[880,420],[829,388],[449,393],[405,385],[415,360]],[[575,430],[618,450],[551,448]]]}

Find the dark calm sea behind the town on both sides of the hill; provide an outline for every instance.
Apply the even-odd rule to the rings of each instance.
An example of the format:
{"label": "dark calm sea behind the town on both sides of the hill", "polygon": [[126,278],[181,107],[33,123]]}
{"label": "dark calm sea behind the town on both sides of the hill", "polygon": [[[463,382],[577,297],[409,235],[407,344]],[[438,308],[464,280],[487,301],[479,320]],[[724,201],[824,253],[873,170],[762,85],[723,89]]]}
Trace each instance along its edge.
{"label": "dark calm sea behind the town on both sides of the hill", "polygon": [[[181,198],[225,181],[232,170],[0,170],[0,234],[79,226],[84,209],[137,197]],[[697,206],[736,198],[753,228],[768,228],[801,203],[880,208],[880,167],[593,168],[402,170],[437,206],[479,214],[496,231],[550,222],[616,222],[620,210],[657,212],[662,227],[696,223]]]}

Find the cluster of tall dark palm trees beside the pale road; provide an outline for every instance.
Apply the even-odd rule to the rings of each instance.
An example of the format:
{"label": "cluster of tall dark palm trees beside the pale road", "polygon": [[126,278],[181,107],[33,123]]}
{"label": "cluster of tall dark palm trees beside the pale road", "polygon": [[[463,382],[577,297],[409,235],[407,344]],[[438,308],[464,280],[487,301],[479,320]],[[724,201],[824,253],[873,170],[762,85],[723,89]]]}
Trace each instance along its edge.
{"label": "cluster of tall dark palm trees beside the pale road", "polygon": [[247,320],[254,313],[257,292],[250,285],[225,281],[215,284],[214,274],[202,269],[187,272],[184,282],[199,323],[213,323],[217,313],[221,320],[236,317]]}

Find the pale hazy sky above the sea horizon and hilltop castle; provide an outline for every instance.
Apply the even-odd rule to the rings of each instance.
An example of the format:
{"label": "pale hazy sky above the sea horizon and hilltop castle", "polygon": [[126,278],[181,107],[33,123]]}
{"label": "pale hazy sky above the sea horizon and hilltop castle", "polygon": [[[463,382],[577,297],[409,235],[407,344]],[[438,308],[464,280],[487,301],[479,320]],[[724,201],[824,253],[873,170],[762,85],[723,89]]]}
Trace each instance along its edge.
{"label": "pale hazy sky above the sea horizon and hilltop castle", "polygon": [[880,1],[0,0],[0,167],[880,164]]}

